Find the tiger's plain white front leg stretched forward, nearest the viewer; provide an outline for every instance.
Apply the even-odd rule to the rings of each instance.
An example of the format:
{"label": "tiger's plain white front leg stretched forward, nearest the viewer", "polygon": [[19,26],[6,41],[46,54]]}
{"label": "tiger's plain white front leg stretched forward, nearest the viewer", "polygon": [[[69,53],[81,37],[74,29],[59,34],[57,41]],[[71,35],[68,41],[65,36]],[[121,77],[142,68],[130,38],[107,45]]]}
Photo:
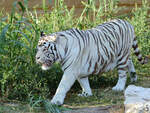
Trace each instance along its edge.
{"label": "tiger's plain white front leg stretched forward, nearest the viewer", "polygon": [[66,93],[70,90],[71,86],[76,80],[75,74],[71,71],[66,71],[59,83],[56,93],[51,100],[52,104],[62,105],[66,96]]}

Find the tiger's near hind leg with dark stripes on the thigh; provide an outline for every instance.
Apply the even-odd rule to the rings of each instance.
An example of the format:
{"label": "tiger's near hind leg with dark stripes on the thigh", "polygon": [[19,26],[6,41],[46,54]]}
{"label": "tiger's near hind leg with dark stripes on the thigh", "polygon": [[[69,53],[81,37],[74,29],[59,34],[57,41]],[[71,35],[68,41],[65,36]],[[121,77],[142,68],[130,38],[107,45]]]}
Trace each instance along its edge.
{"label": "tiger's near hind leg with dark stripes on the thigh", "polygon": [[126,56],[125,58],[118,60],[118,65],[117,65],[117,69],[118,69],[118,81],[116,86],[114,86],[112,88],[112,90],[114,91],[123,91],[126,85],[126,80],[127,80],[127,66],[128,66],[128,56]]}

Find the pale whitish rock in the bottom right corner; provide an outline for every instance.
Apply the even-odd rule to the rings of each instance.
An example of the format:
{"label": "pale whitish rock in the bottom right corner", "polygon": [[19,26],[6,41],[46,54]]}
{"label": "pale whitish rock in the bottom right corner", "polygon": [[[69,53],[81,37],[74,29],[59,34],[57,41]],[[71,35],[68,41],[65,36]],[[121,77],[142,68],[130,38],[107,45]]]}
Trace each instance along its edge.
{"label": "pale whitish rock in the bottom right corner", "polygon": [[125,113],[150,113],[150,88],[129,85],[124,95]]}

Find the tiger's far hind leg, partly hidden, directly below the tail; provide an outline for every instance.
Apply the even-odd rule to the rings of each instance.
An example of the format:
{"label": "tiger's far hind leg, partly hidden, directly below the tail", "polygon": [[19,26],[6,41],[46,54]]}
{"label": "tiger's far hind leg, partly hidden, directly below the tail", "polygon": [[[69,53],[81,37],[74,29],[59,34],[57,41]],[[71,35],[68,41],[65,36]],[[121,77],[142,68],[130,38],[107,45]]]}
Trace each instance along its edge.
{"label": "tiger's far hind leg, partly hidden, directly below the tail", "polygon": [[137,81],[137,74],[136,74],[134,64],[133,64],[131,58],[129,58],[129,60],[128,60],[128,72],[130,75],[131,82],[136,82]]}

